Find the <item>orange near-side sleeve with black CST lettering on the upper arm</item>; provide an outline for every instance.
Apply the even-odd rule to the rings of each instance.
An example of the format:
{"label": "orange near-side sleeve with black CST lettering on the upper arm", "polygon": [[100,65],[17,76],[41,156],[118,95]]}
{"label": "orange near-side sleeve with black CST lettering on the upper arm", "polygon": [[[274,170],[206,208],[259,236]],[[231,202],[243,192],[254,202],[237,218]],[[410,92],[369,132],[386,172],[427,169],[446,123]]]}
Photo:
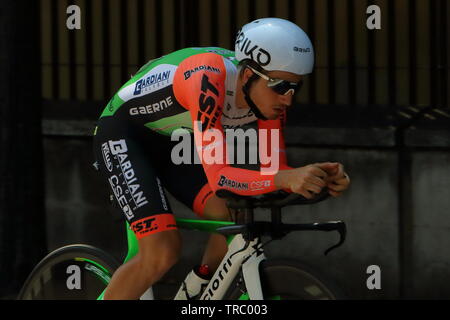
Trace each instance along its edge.
{"label": "orange near-side sleeve with black CST lettering on the upper arm", "polygon": [[202,53],[185,59],[174,78],[176,99],[191,114],[194,140],[206,177],[214,191],[241,195],[276,190],[274,174],[231,167],[220,121],[225,99],[226,67],[220,55]]}

